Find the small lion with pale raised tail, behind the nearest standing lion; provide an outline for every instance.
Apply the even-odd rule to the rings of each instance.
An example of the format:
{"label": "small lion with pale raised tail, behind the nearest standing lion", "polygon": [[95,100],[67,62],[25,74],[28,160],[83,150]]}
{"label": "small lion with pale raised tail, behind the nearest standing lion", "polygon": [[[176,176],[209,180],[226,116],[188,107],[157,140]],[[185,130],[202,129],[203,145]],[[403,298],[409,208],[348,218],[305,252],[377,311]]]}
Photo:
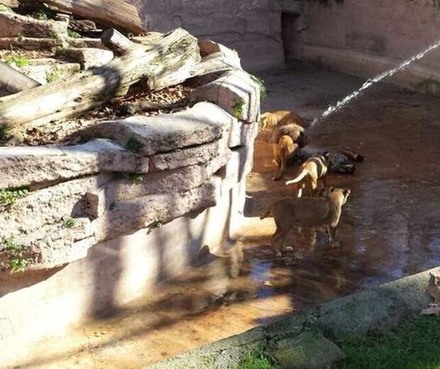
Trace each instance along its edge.
{"label": "small lion with pale raised tail, behind the nearest standing lion", "polygon": [[328,163],[323,155],[315,155],[307,159],[301,167],[297,177],[293,180],[287,181],[286,186],[292,183],[297,183],[298,197],[302,196],[302,191],[307,189],[309,197],[314,196],[314,192],[318,188],[318,180],[321,180],[326,187],[326,174],[328,170]]}

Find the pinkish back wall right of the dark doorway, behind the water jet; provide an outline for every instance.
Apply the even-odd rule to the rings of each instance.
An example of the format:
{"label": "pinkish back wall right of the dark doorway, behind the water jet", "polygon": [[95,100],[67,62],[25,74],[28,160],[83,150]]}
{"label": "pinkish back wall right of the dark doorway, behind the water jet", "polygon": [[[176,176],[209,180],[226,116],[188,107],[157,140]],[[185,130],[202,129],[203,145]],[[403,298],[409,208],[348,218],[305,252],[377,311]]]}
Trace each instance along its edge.
{"label": "pinkish back wall right of the dark doorway, behind the water jet", "polygon": [[[292,0],[292,2],[295,2]],[[290,60],[371,77],[440,40],[440,3],[434,0],[304,1],[301,16],[286,25]],[[440,94],[440,50],[390,82]]]}

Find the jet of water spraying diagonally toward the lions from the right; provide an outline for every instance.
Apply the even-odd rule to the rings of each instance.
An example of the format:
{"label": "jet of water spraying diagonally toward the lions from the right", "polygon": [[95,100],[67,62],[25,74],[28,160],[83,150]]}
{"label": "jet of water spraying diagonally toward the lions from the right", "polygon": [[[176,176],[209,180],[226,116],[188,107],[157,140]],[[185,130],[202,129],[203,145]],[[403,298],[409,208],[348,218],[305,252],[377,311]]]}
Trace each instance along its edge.
{"label": "jet of water spraying diagonally toward the lions from the right", "polygon": [[380,75],[377,75],[376,77],[374,77],[372,79],[368,79],[361,86],[360,89],[357,89],[356,91],[352,92],[348,96],[344,97],[342,100],[338,101],[336,103],[336,105],[329,106],[329,108],[326,111],[324,111],[324,113],[321,114],[321,116],[314,119],[314,121],[312,122],[312,125],[310,127],[312,128],[315,124],[322,121],[330,114],[336,113],[336,111],[339,111],[340,109],[342,109],[344,106],[349,104],[351,102],[351,100],[356,99],[356,97],[358,97],[361,94],[361,92],[363,92],[365,89],[368,89],[368,87],[371,87],[373,84],[380,82],[382,79],[384,79],[386,77],[390,77],[392,75],[395,75],[397,72],[400,72],[400,70],[404,70],[408,65],[412,64],[412,62],[419,60],[419,59],[422,59],[422,57],[427,55],[427,53],[429,53],[431,50],[438,48],[439,46],[440,46],[440,40],[438,42],[434,43],[433,45],[429,46],[429,48],[423,50],[421,53],[414,55],[413,57],[409,58],[408,60],[405,60],[405,62],[402,62],[402,64],[398,65],[397,67],[393,68],[392,70],[387,70],[386,72],[383,72]]}

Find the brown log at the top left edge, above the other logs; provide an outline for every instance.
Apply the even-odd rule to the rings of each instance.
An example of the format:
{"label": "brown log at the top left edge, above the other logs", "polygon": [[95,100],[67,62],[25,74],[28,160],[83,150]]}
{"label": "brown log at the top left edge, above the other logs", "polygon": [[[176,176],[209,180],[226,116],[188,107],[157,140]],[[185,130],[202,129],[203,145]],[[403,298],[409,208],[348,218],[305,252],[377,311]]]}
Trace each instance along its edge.
{"label": "brown log at the top left edge, above the other logs", "polygon": [[141,18],[135,6],[123,0],[36,0],[59,9],[92,19],[104,26],[122,28],[133,33],[143,33]]}

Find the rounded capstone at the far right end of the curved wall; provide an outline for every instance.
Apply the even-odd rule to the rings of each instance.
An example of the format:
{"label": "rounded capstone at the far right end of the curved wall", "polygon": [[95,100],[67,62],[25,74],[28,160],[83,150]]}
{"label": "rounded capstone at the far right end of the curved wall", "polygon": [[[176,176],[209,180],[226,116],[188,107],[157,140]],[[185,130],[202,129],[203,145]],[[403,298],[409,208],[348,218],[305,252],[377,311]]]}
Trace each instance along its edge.
{"label": "rounded capstone at the far right end of the curved wall", "polygon": [[243,121],[260,119],[260,87],[243,70],[225,72],[219,79],[195,89],[190,99],[211,101]]}

